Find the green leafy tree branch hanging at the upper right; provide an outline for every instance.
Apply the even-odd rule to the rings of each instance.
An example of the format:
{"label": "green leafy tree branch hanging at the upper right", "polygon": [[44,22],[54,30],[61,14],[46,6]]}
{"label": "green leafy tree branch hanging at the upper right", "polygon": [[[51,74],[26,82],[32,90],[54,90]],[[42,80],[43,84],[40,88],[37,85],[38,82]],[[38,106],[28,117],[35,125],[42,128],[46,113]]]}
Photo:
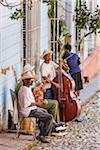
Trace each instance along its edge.
{"label": "green leafy tree branch hanging at the upper right", "polygon": [[[81,2],[81,1],[80,1]],[[89,36],[92,33],[100,33],[100,9],[97,6],[94,12],[88,9],[86,2],[83,4],[80,3],[78,7],[75,9],[76,11],[76,27],[84,32],[83,37],[80,38],[78,50],[80,51],[80,45],[85,37]]]}

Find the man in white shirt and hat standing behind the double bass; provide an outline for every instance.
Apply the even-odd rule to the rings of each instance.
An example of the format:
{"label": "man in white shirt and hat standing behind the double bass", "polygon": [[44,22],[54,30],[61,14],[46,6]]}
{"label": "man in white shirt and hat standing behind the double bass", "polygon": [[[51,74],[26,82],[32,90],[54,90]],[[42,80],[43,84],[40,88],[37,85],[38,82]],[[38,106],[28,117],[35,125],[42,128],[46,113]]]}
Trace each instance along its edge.
{"label": "man in white shirt and hat standing behind the double bass", "polygon": [[44,94],[45,99],[53,99],[52,84],[54,84],[57,88],[60,87],[58,83],[53,82],[58,65],[51,60],[51,54],[51,51],[45,50],[41,56],[41,59],[44,59],[44,62],[40,67],[41,77],[42,80],[46,81],[47,85],[46,92]]}

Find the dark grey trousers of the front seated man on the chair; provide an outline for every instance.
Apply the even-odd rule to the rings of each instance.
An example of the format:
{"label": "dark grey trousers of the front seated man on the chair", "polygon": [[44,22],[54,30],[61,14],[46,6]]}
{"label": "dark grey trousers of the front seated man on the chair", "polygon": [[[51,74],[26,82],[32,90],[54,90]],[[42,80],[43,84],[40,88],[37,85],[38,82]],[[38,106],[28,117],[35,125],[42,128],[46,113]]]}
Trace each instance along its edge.
{"label": "dark grey trousers of the front seated man on the chair", "polygon": [[48,136],[53,129],[53,117],[47,111],[37,108],[35,110],[31,110],[29,117],[38,118],[38,127],[40,129],[39,136]]}

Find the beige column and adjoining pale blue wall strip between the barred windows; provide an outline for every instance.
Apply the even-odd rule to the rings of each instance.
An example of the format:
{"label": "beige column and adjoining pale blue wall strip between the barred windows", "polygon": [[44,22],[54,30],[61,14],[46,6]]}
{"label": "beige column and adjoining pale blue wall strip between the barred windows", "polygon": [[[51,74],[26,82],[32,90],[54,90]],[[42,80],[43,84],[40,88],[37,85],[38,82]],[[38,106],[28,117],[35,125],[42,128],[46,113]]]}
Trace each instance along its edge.
{"label": "beige column and adjoining pale blue wall strip between the barred windows", "polygon": [[33,1],[32,9],[27,8],[25,20],[24,64],[29,62],[35,65],[36,74],[39,74],[40,55],[45,49],[48,49],[47,3],[39,0]]}

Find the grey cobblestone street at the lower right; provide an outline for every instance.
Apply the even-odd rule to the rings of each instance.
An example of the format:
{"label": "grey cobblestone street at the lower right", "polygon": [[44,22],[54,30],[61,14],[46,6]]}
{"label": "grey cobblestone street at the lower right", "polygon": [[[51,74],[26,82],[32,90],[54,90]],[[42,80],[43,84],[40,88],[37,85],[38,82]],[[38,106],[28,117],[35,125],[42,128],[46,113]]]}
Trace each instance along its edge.
{"label": "grey cobblestone street at the lower right", "polygon": [[50,144],[33,143],[25,150],[100,150],[100,92],[82,108],[81,123],[67,123],[67,135]]}

